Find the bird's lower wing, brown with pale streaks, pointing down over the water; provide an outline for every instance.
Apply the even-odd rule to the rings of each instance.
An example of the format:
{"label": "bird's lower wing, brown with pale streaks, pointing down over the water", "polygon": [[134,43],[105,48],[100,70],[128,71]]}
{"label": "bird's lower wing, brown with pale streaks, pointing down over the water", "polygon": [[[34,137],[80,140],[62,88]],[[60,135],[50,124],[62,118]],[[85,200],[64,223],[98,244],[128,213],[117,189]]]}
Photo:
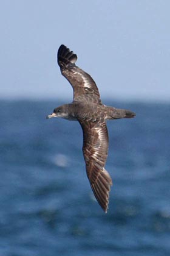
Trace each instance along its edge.
{"label": "bird's lower wing, brown with pale streaks, pointing down over the water", "polygon": [[83,154],[87,177],[98,203],[104,212],[107,212],[112,179],[104,169],[109,143],[106,123],[82,120],[79,122],[83,129]]}

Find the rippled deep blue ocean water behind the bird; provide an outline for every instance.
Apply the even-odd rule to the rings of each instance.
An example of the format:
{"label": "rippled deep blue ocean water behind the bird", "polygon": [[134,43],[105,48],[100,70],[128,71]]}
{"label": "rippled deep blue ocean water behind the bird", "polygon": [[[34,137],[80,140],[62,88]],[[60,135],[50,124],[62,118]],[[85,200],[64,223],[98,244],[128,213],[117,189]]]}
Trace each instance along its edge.
{"label": "rippled deep blue ocean water behind the bird", "polygon": [[170,255],[170,104],[107,102],[107,214],[87,180],[80,124],[59,101],[0,101],[0,255]]}

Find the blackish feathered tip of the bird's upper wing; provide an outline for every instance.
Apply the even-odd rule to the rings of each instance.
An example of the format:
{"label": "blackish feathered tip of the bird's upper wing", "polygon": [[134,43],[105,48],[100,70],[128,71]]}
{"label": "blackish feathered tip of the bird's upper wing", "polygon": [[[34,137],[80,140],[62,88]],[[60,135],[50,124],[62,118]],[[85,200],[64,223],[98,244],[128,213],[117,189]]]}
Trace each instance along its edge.
{"label": "blackish feathered tip of the bird's upper wing", "polygon": [[70,51],[64,44],[58,49],[57,61],[60,68],[64,66],[74,65],[77,61],[77,55]]}

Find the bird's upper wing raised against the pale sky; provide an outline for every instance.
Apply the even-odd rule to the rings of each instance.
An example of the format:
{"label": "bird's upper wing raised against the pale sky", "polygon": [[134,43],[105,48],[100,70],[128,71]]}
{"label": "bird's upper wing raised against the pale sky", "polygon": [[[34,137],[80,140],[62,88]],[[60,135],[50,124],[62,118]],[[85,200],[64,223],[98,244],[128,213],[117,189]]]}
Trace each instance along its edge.
{"label": "bird's upper wing raised against the pale sky", "polygon": [[98,103],[100,94],[92,77],[75,65],[77,55],[61,44],[57,54],[61,73],[73,87],[73,101],[89,101]]}

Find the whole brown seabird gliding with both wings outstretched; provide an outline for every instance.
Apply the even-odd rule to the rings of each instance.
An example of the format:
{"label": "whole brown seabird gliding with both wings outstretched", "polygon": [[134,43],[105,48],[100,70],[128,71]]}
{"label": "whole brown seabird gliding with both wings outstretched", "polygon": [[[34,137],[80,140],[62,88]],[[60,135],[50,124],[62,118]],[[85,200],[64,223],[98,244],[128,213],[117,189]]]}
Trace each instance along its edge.
{"label": "whole brown seabird gliding with both wings outstretched", "polygon": [[135,113],[103,105],[95,81],[75,65],[77,55],[63,44],[58,49],[57,60],[61,74],[72,85],[73,101],[56,107],[47,118],[60,117],[80,123],[87,177],[98,204],[107,213],[112,179],[104,168],[109,143],[106,121],[134,118]]}

